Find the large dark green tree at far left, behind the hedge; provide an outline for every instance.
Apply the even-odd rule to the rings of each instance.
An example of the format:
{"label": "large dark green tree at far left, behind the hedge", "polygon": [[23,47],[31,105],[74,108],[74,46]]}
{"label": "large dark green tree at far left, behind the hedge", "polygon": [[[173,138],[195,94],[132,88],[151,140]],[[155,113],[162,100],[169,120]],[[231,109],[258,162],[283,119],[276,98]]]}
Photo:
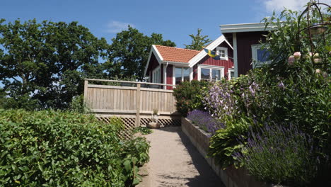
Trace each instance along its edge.
{"label": "large dark green tree at far left, behind the hedge", "polygon": [[[108,44],[77,22],[0,21],[0,81],[11,108],[66,108],[83,78],[101,78]],[[38,105],[38,106],[37,106]]]}

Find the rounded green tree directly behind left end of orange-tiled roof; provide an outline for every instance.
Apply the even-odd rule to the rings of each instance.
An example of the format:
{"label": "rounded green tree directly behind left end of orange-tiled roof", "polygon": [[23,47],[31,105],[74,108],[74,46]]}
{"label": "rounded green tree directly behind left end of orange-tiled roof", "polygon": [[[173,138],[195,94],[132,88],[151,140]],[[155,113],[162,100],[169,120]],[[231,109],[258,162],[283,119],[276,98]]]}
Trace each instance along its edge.
{"label": "rounded green tree directly behind left end of orange-tiled roof", "polygon": [[116,37],[112,38],[109,61],[105,63],[108,76],[120,79],[124,77],[143,79],[151,45],[175,47],[174,42],[163,40],[161,34],[144,35],[131,26],[127,30],[117,33]]}

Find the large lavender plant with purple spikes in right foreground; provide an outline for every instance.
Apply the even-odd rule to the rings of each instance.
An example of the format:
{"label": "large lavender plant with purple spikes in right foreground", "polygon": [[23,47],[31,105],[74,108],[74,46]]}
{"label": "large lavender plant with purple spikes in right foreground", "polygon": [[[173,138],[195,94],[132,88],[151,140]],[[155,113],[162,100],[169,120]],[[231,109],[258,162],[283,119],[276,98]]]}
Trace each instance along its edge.
{"label": "large lavender plant with purple spikes in right foreground", "polygon": [[315,178],[322,159],[315,154],[319,149],[313,139],[292,124],[250,128],[248,139],[240,136],[238,142],[244,148],[233,157],[262,181],[305,186]]}

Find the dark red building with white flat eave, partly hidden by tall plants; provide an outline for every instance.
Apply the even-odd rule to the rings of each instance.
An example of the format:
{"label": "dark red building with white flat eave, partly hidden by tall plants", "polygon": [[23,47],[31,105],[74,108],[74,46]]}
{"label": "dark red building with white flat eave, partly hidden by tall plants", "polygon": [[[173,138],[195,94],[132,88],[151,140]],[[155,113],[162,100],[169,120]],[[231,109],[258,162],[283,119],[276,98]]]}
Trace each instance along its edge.
{"label": "dark red building with white flat eave, partly hidden by tall plants", "polygon": [[267,51],[262,50],[260,41],[264,41],[268,30],[264,23],[243,23],[221,25],[221,33],[233,46],[234,77],[246,74],[248,70],[267,63]]}

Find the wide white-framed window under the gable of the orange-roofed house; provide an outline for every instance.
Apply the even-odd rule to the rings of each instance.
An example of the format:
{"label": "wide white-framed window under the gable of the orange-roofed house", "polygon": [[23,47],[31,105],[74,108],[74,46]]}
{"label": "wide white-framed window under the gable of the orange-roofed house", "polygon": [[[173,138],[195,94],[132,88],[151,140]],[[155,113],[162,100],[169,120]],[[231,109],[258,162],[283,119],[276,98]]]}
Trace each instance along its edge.
{"label": "wide white-framed window under the gable of the orange-roofed house", "polygon": [[199,65],[198,80],[219,81],[224,77],[224,68],[216,66]]}

